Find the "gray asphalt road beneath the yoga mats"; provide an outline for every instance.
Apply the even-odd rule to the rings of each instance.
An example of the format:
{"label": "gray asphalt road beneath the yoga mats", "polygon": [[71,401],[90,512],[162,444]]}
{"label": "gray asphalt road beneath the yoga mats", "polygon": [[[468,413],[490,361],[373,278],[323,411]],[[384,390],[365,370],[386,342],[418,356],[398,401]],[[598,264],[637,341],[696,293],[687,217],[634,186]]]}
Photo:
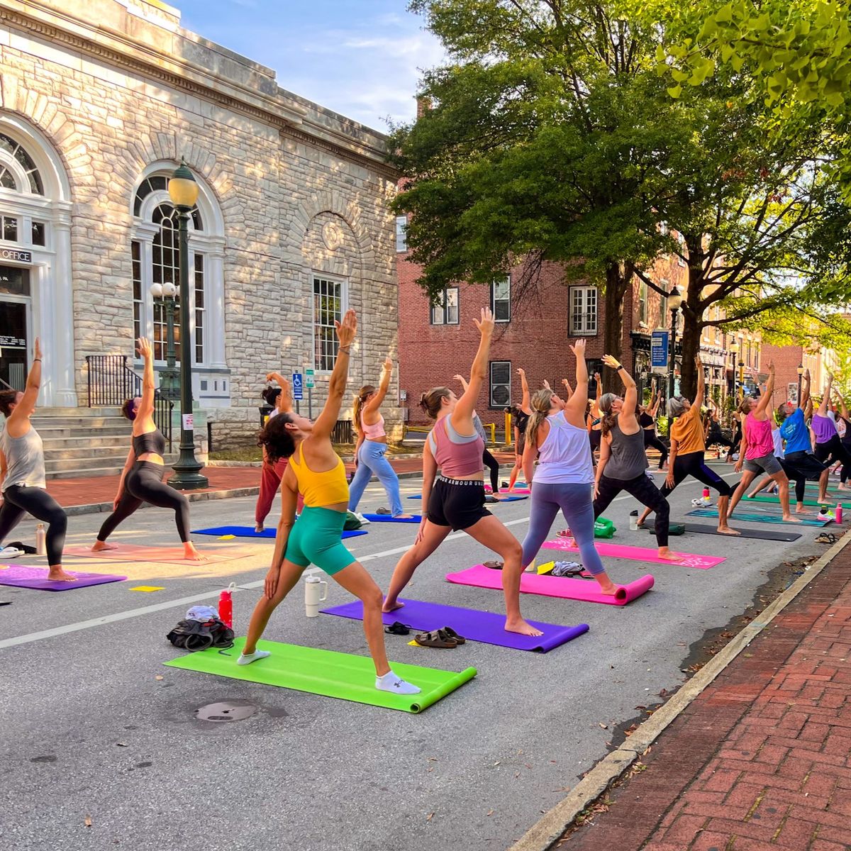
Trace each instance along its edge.
{"label": "gray asphalt road beneath the yoga mats", "polygon": [[[732,482],[730,470],[720,468]],[[415,493],[419,483],[402,485]],[[682,518],[696,495],[698,483],[677,488],[672,518]],[[383,502],[373,485],[362,508]],[[634,507],[623,496],[607,511],[619,529],[615,541],[653,545],[646,532],[629,531]],[[495,511],[522,539],[528,500]],[[71,517],[69,543],[93,540],[102,519]],[[195,528],[252,519],[253,500],[192,504]],[[372,524],[348,543],[369,557],[365,563],[386,587],[415,529]],[[242,586],[234,609],[237,634],[244,633],[271,544],[198,537],[203,549],[237,558],[193,568],[123,563],[133,580],[163,586],[152,593],[130,591],[138,581],[63,593],[0,586],[0,599],[13,601],[0,608],[0,846],[506,848],[605,755],[615,725],[683,682],[688,648],[743,612],[771,568],[820,549],[813,542],[818,528],[800,531],[794,544],[698,534],[671,540],[677,550],[727,557],[711,570],[604,559],[615,581],[655,576],[654,589],[625,608],[523,596],[527,617],[591,626],[548,654],[469,642],[429,650],[388,636],[391,660],[478,669],[471,683],[417,716],[163,667],[178,653],[165,641],[168,630],[192,600],[214,604],[231,581]],[[31,523],[20,527],[21,540],[32,534]],[[177,538],[168,513],[148,509],[117,540],[174,545]],[[421,566],[408,595],[500,612],[500,592],[443,579],[486,557],[480,545],[454,535]],[[108,570],[102,562],[88,565],[66,559],[71,569]],[[350,599],[333,584],[329,598]],[[358,622],[307,619],[300,589],[266,637],[366,654]],[[198,707],[220,700],[260,708],[231,723],[195,718]]]}

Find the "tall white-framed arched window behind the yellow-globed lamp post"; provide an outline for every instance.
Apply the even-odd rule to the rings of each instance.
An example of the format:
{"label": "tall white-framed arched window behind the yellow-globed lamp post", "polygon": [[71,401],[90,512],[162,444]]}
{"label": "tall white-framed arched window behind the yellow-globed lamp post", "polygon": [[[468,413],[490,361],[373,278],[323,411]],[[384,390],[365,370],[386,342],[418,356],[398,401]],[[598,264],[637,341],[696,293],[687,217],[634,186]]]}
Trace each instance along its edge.
{"label": "tall white-framed arched window behind the yellow-globed lamp post", "polygon": [[[168,197],[170,163],[151,166],[134,193],[133,263],[134,336],[149,336],[154,360],[165,363],[168,323],[163,300],[151,296],[151,284],[180,286],[180,243],[177,210]],[[190,333],[192,364],[202,376],[196,391],[225,398],[224,282],[225,239],[218,205],[201,180],[197,205],[191,209],[189,231]],[[178,297],[177,303],[180,304]],[[180,328],[174,328],[175,356],[180,360]],[[204,374],[214,377],[208,380]]]}

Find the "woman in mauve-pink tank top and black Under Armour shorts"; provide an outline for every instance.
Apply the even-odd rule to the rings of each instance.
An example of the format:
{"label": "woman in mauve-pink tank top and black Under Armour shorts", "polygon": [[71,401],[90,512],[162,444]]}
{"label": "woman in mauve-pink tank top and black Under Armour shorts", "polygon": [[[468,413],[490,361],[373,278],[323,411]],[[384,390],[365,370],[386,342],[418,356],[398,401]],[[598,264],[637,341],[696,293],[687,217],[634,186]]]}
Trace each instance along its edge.
{"label": "woman in mauve-pink tank top and black Under Armour shorts", "polygon": [[436,420],[423,448],[424,514],[414,546],[399,559],[393,571],[384,611],[392,612],[404,605],[399,603],[398,597],[414,571],[453,529],[463,529],[502,557],[505,629],[540,636],[540,630],[529,625],[520,614],[520,559],[523,555],[520,542],[484,507],[484,441],[473,426],[473,408],[488,375],[488,352],[494,334],[494,315],[489,308],[482,308],[482,319],[476,326],[481,339],[464,395],[459,399],[448,387],[433,387],[420,399],[422,408]]}

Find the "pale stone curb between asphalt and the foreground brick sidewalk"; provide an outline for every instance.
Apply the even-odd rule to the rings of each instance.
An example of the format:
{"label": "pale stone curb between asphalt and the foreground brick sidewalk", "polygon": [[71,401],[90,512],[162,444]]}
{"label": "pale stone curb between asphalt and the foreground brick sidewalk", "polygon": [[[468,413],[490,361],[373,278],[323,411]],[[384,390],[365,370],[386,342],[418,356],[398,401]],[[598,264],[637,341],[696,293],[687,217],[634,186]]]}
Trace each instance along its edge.
{"label": "pale stone curb between asphalt and the foreground brick sidewalk", "polygon": [[713,656],[694,677],[684,683],[671,700],[660,706],[647,721],[643,722],[631,734],[617,751],[612,751],[591,769],[562,801],[545,813],[532,827],[517,840],[509,851],[547,851],[564,831],[573,823],[591,802],[597,800],[608,787],[624,774],[627,768],[641,757],[644,751],[659,738],[665,728],[680,715],[683,710],[709,686],[712,681],[756,638],[786,606],[800,594],[809,583],[824,570],[834,558],[851,544],[851,534],[842,535],[842,539],[825,552],[825,555],[812,563],[807,572],[799,576],[774,603],[762,610],[760,620],[750,624],[736,635],[722,651]]}

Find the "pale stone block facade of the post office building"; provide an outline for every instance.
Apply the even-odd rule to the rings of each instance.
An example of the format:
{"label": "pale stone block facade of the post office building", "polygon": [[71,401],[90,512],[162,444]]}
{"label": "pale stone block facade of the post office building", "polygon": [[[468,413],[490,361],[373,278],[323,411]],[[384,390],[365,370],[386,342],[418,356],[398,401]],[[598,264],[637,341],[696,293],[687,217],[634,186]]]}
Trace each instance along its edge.
{"label": "pale stone block facade of the post office building", "polygon": [[[397,343],[395,175],[381,134],[280,89],[270,69],[146,0],[0,0],[0,84],[0,119],[31,130],[25,146],[49,146],[66,185],[52,200],[70,226],[68,256],[55,260],[68,265],[70,291],[59,275],[60,306],[33,304],[64,307],[56,345],[71,337],[72,392],[48,403],[71,404],[74,392],[86,403],[86,355],[132,356],[131,242],[157,230],[134,214],[134,197],[180,157],[206,204],[208,233],[190,237],[209,279],[195,389],[204,407],[205,376],[227,388],[208,406],[216,443],[254,431],[267,371],[314,366],[315,274],[341,283],[344,309],[357,311],[352,388],[377,378]],[[139,310],[151,328],[150,304]],[[317,369],[314,411],[327,379]]]}

